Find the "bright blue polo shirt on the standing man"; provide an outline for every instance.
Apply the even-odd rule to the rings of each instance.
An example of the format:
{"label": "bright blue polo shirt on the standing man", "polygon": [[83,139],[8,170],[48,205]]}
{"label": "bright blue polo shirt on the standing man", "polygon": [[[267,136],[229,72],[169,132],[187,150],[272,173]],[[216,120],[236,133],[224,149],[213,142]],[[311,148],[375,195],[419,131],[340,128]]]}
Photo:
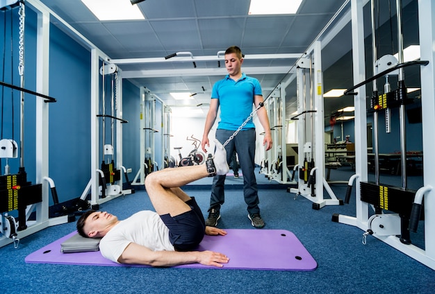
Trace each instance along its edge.
{"label": "bright blue polo shirt on the standing man", "polygon": [[[254,95],[263,95],[260,83],[256,78],[246,76],[235,82],[229,74],[213,85],[212,99],[219,99],[220,121],[217,129],[237,130],[251,114],[254,105]],[[252,119],[242,130],[255,128]]]}

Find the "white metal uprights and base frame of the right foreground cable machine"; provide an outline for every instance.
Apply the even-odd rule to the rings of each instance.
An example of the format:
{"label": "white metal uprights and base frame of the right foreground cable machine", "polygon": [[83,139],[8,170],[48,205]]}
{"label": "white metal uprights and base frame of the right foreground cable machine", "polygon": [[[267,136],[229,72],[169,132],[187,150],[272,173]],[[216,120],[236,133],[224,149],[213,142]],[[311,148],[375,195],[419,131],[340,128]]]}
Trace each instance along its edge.
{"label": "white metal uprights and base frame of the right foreground cable machine", "polygon": [[[397,7],[400,7],[397,5]],[[365,80],[365,64],[364,64],[364,39],[363,39],[363,0],[352,0],[352,47],[353,47],[353,64],[354,64],[354,84],[358,85]],[[399,14],[397,14],[399,15]],[[422,138],[423,138],[423,187],[418,189],[413,202],[411,212],[411,223],[409,230],[416,229],[418,220],[420,219],[420,208],[424,200],[424,236],[425,246],[419,248],[411,243],[404,243],[401,238],[396,235],[397,229],[400,232],[400,218],[389,216],[389,214],[374,214],[369,218],[369,204],[363,202],[359,197],[356,198],[356,216],[344,216],[335,214],[333,220],[338,223],[345,223],[359,227],[366,233],[373,228],[372,236],[375,236],[380,241],[391,245],[391,247],[407,254],[409,257],[416,259],[420,263],[425,264],[429,268],[435,270],[435,198],[434,189],[435,166],[433,164],[435,158],[432,152],[434,146],[434,130],[435,130],[435,53],[433,51],[432,42],[435,40],[435,3],[431,0],[418,1],[418,17],[420,28],[420,59],[427,60],[429,63],[426,66],[420,67],[421,74],[421,101],[422,101]],[[423,21],[424,20],[424,21]],[[398,21],[399,22],[399,21]],[[361,194],[361,182],[367,180],[367,150],[366,150],[366,89],[360,87],[357,94],[354,96],[355,103],[355,136],[358,136],[363,141],[356,145],[356,174],[350,179],[349,184],[356,182],[356,195]],[[403,168],[403,167],[402,167]],[[380,229],[379,229],[380,227]],[[384,232],[382,232],[384,231]]]}

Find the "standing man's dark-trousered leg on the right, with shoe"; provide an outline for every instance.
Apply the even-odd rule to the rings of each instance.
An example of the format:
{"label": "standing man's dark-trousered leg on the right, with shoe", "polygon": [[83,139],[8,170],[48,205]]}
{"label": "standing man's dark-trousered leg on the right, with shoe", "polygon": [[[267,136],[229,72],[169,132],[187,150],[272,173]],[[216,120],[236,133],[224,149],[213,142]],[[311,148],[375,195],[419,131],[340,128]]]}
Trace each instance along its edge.
{"label": "standing man's dark-trousered leg on the right, with shoe", "polygon": [[254,227],[264,227],[265,223],[261,219],[260,207],[258,207],[260,201],[258,200],[258,188],[254,171],[255,129],[241,131],[234,139],[236,140],[240,168],[243,171],[243,194],[247,204],[248,217]]}

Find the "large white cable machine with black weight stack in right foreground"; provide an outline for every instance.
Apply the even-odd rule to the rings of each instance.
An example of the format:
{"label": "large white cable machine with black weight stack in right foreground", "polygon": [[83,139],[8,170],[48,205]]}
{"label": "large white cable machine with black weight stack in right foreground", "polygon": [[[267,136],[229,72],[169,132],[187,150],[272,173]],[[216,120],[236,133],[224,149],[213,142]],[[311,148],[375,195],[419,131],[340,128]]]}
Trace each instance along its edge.
{"label": "large white cable machine with black weight stack in right foreground", "polygon": [[[355,135],[360,138],[366,137],[366,103],[365,87],[373,82],[373,95],[370,103],[370,112],[374,119],[374,152],[375,152],[375,182],[367,181],[367,151],[361,150],[362,145],[356,148],[356,174],[349,180],[345,202],[349,202],[352,184],[356,182],[356,217],[334,214],[332,220],[338,223],[354,225],[364,231],[363,243],[367,242],[367,236],[375,236],[393,248],[400,250],[413,259],[435,269],[435,202],[434,202],[434,177],[435,171],[433,162],[434,155],[434,85],[435,85],[435,54],[432,50],[434,40],[435,6],[430,0],[422,0],[418,3],[419,26],[420,26],[420,50],[421,59],[414,62],[404,62],[403,42],[402,42],[402,1],[396,1],[397,16],[397,44],[399,54],[397,62],[391,62],[391,66],[383,71],[376,69],[381,63],[381,58],[377,60],[377,49],[375,39],[375,1],[371,1],[372,11],[372,49],[373,49],[373,68],[372,78],[361,81],[365,76],[364,65],[364,40],[363,40],[363,4],[362,1],[352,0],[352,46],[354,63],[354,83],[356,85],[347,89],[345,94],[354,95],[355,101]],[[390,57],[388,57],[390,58]],[[395,63],[395,64],[394,64]],[[413,191],[407,189],[407,149],[406,149],[406,130],[404,105],[410,103],[407,98],[406,86],[404,84],[404,67],[420,66],[421,89],[422,89],[422,132],[423,132],[423,174],[424,187]],[[379,94],[376,80],[386,78],[398,70],[397,89],[391,91],[389,86],[384,88],[384,94]],[[358,89],[358,92],[352,92]],[[386,130],[389,128],[389,112],[398,110],[400,114],[400,152],[401,152],[401,175],[402,186],[392,187],[381,184],[379,181],[379,151],[377,144],[378,114],[385,112]],[[356,146],[357,147],[357,146]],[[424,205],[423,205],[424,200]],[[374,214],[370,216],[370,207],[373,207]],[[424,209],[425,218],[425,246],[419,248],[414,245],[410,238],[410,232],[416,232],[420,219],[421,210]],[[388,213],[384,212],[388,211]]]}

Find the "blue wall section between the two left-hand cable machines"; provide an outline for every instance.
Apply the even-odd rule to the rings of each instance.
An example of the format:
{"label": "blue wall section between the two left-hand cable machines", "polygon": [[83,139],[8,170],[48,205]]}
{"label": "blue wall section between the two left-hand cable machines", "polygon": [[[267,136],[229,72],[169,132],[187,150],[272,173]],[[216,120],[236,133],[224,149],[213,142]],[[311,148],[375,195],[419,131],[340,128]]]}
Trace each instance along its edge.
{"label": "blue wall section between the two left-hand cable machines", "polygon": [[49,177],[60,202],[90,180],[90,52],[50,26]]}

